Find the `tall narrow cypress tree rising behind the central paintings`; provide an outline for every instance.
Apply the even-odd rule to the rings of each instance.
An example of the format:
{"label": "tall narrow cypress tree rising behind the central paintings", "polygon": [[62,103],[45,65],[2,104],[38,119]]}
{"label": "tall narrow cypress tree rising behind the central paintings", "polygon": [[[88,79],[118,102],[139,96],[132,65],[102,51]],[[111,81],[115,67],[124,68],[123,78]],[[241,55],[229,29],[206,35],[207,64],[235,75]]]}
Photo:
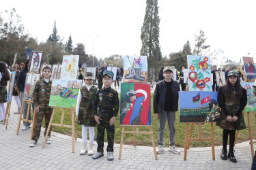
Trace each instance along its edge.
{"label": "tall narrow cypress tree rising behind the central paintings", "polygon": [[147,76],[152,85],[158,78],[158,62],[161,58],[159,23],[158,0],[147,0],[144,22],[141,28],[141,55],[147,56]]}

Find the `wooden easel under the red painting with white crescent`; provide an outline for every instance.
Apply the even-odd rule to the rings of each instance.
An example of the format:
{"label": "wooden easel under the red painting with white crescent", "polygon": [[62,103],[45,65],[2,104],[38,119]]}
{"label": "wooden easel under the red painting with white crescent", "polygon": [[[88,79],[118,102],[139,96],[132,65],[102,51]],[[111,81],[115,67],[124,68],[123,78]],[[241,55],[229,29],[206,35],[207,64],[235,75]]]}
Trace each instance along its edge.
{"label": "wooden easel under the red painting with white crescent", "polygon": [[[156,146],[155,146],[155,143],[154,143],[152,125],[124,125],[124,124],[122,125],[122,124],[120,124],[120,126],[122,126],[122,136],[121,136],[121,143],[120,143],[120,150],[119,150],[119,157],[118,157],[119,160],[121,159],[121,155],[122,155],[122,146],[123,146],[123,142],[124,142],[124,133],[133,134],[133,146],[135,146],[135,144],[136,144],[136,134],[150,135],[151,140],[152,140],[152,146],[153,146],[153,149],[154,149],[155,158],[156,158],[156,160],[158,159],[157,155],[156,155]],[[124,131],[124,128],[126,126],[133,126],[133,131]],[[150,131],[139,131],[139,127],[143,127],[143,126],[148,127],[150,129]]]}

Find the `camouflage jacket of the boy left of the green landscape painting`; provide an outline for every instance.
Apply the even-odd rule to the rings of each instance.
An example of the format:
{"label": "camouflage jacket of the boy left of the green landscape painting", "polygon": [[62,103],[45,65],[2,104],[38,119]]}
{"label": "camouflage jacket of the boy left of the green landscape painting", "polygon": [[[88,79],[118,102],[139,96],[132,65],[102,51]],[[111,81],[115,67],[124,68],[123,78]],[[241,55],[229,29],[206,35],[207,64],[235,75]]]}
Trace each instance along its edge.
{"label": "camouflage jacket of the boy left of the green landscape painting", "polygon": [[51,95],[52,80],[48,83],[44,79],[38,80],[33,89],[33,103],[36,106],[41,105],[42,108],[49,107]]}

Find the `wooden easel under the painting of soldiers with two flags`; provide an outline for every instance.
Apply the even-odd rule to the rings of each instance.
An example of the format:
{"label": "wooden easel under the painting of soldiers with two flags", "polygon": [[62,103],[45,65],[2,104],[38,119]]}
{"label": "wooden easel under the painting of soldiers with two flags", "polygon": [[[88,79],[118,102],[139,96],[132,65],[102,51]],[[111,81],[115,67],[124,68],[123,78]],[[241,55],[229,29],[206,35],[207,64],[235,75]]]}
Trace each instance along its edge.
{"label": "wooden easel under the painting of soldiers with two flags", "polygon": [[[211,124],[211,137],[210,138],[201,138],[201,125],[203,125],[205,123]],[[185,138],[184,138],[184,160],[186,160],[186,152],[189,149],[190,141],[212,141],[212,160],[215,160],[214,128],[213,128],[214,123],[215,122],[186,122],[186,131],[185,131]],[[188,136],[188,124],[191,124],[189,136]],[[198,137],[197,138],[191,138],[194,124],[198,125]]]}

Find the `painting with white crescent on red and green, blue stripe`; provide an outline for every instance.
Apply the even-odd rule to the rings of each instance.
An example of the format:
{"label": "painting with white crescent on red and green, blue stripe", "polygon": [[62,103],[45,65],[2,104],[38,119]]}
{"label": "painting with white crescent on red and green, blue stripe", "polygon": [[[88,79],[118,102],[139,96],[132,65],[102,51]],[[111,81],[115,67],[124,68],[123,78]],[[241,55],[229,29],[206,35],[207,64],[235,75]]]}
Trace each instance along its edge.
{"label": "painting with white crescent on red and green, blue stripe", "polygon": [[121,83],[120,124],[151,125],[150,84]]}

